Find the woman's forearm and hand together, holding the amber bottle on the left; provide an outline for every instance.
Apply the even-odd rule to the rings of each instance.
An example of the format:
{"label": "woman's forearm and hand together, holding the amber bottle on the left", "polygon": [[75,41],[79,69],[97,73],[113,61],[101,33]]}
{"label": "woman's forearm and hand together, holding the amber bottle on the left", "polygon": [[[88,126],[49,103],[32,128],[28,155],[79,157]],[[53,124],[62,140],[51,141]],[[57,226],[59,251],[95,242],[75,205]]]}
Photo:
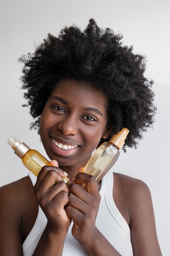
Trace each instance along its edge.
{"label": "woman's forearm and hand together, holding the amber bottle on the left", "polygon": [[48,222],[33,256],[62,255],[64,240],[71,224],[64,209],[68,202],[68,187],[62,177],[65,177],[63,171],[56,167],[51,170],[51,166],[44,166],[38,175],[34,186],[35,196]]}

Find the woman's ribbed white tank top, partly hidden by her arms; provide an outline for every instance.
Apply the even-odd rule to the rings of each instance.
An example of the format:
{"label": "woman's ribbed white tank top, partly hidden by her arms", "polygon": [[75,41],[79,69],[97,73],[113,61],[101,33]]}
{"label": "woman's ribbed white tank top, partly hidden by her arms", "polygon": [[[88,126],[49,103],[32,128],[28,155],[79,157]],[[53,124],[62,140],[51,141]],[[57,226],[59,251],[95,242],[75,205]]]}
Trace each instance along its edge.
{"label": "woman's ribbed white tank top, partly hidden by her arms", "polygon": [[[37,177],[29,173],[29,177],[35,185]],[[110,170],[102,179],[99,190],[101,202],[96,218],[96,227],[106,237],[111,245],[121,256],[133,256],[132,243],[130,240],[130,228],[128,223],[117,209],[113,200],[113,171]],[[33,229],[22,245],[23,256],[32,256],[38,245],[40,237],[46,227],[47,219],[39,207],[38,216]],[[73,222],[71,223],[66,239],[62,256],[87,256],[81,245],[71,234]]]}

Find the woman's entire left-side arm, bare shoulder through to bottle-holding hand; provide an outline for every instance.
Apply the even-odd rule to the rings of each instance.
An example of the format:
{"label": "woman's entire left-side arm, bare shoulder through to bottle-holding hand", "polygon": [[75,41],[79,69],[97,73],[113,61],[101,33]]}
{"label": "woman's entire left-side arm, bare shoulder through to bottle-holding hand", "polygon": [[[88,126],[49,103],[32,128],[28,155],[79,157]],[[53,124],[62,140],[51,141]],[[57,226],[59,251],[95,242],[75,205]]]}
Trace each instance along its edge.
{"label": "woman's entire left-side arm, bare shoulder through to bottle-holding hand", "polygon": [[[48,252],[50,252],[51,256],[57,256],[62,255],[62,246],[71,220],[66,214],[60,216],[63,211],[62,205],[68,200],[68,188],[62,180],[65,175],[59,168],[53,167],[53,171],[49,169],[51,166],[43,168],[35,186],[35,194],[49,221],[34,255],[49,255]],[[49,176],[46,176],[47,173]],[[46,179],[49,179],[49,183]],[[50,182],[54,182],[54,186]],[[60,208],[54,207],[56,202],[59,202]],[[33,227],[37,207],[29,177],[0,188],[0,254],[3,256],[23,255],[22,243]],[[57,226],[56,216],[53,216],[55,213],[56,216],[58,214],[58,222],[60,224],[61,221],[62,225]],[[57,244],[55,239],[58,241]]]}

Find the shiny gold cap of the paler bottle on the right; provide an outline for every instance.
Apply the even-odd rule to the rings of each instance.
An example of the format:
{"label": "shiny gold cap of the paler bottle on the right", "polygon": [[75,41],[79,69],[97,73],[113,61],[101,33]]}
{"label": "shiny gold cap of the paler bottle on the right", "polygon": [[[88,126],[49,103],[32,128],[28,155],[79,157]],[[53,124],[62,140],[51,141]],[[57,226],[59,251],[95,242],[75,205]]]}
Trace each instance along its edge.
{"label": "shiny gold cap of the paler bottle on the right", "polygon": [[110,139],[110,142],[120,149],[125,144],[125,139],[128,133],[129,130],[127,128],[123,128],[116,135],[113,135],[113,137]]}

